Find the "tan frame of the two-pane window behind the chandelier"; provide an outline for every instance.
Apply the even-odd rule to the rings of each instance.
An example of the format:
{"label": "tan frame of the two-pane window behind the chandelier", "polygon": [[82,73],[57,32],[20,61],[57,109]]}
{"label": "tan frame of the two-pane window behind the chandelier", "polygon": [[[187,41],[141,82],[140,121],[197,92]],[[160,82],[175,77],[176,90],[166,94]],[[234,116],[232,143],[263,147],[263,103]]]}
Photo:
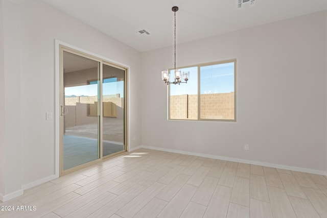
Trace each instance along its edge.
{"label": "tan frame of the two-pane window behind the chandelier", "polygon": [[[204,66],[211,66],[211,65],[219,65],[219,64],[225,64],[225,63],[233,63],[234,64],[234,118],[233,119],[213,119],[213,118],[201,118],[201,105],[200,105],[200,101],[201,101],[201,94],[200,94],[200,90],[201,90],[201,71],[200,68],[204,67]],[[198,84],[197,84],[197,100],[198,100],[198,113],[197,113],[197,119],[189,119],[189,118],[185,118],[185,119],[172,119],[171,118],[171,105],[170,105],[170,100],[171,100],[171,96],[170,96],[170,86],[168,85],[168,120],[183,120],[183,121],[209,121],[209,122],[236,122],[237,120],[237,59],[228,59],[228,60],[223,60],[223,61],[215,61],[215,62],[207,62],[207,63],[201,63],[201,64],[195,64],[195,65],[190,65],[190,66],[184,66],[184,67],[176,67],[176,69],[183,69],[183,68],[189,68],[189,67],[197,67],[197,79],[198,79]],[[170,70],[174,70],[174,68],[169,68]],[[192,76],[191,75],[191,80],[192,80]]]}

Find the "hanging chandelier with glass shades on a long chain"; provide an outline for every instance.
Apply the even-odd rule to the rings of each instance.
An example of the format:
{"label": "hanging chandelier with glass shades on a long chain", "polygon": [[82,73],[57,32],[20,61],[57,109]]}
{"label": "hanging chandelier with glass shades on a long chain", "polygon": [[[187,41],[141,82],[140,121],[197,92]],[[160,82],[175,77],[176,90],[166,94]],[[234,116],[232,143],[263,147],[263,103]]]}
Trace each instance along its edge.
{"label": "hanging chandelier with glass shades on a long chain", "polygon": [[[178,11],[178,7],[172,7],[172,11],[174,12],[174,72],[175,72],[175,80],[174,82],[170,82],[170,70],[162,70],[161,71],[161,79],[165,81],[167,85],[169,84],[178,84],[180,83],[188,83],[190,72],[186,71],[181,74],[180,69],[176,69],[176,11]],[[182,82],[184,80],[185,82]]]}

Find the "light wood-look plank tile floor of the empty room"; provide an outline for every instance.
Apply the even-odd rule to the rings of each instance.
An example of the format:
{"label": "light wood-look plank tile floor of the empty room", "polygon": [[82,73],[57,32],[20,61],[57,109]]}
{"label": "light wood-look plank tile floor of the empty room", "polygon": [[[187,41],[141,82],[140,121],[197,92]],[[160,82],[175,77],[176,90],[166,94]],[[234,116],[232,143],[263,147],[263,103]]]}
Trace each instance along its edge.
{"label": "light wood-look plank tile floor of the empty room", "polygon": [[14,209],[1,218],[327,217],[327,178],[139,149],[0,205]]}

